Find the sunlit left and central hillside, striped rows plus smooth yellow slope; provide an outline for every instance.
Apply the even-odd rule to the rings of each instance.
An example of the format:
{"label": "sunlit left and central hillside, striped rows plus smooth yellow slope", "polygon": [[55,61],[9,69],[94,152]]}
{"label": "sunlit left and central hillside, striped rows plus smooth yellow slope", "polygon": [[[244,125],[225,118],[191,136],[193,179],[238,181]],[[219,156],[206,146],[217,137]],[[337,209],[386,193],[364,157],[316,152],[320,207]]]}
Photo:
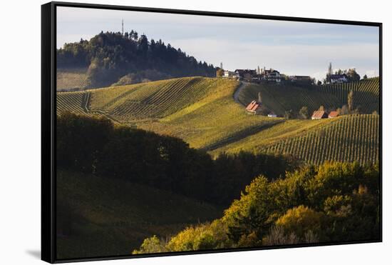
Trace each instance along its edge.
{"label": "sunlit left and central hillside, striped rows plus smooth yellow slope", "polygon": [[88,101],[88,114],[100,113],[122,124],[177,136],[195,148],[215,149],[283,121],[246,114],[232,99],[238,85],[232,80],[192,77],[62,92],[58,114],[71,109],[83,112]]}

